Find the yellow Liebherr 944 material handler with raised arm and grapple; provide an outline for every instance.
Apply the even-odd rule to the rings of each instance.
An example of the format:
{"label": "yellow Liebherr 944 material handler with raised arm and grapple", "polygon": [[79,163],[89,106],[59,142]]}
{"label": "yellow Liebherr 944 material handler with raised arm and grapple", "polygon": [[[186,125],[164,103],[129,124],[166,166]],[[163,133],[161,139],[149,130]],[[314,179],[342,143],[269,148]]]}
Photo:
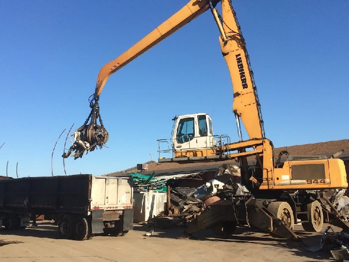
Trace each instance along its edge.
{"label": "yellow Liebherr 944 material handler with raised arm and grapple", "polygon": [[[217,9],[219,3],[222,5],[221,14]],[[343,195],[348,187],[342,160],[333,155],[331,158],[310,156],[287,159],[284,163],[280,163],[279,159],[275,162],[273,144],[265,136],[246,43],[231,0],[190,0],[125,53],[103,66],[97,77],[95,93],[89,99],[91,113],[75,132],[75,143],[63,157],[69,157],[75,151],[73,156],[77,159],[85,151],[93,151],[95,147],[102,147],[108,141],[109,133],[103,126],[98,100],[111,74],[207,10],[211,11],[220,32],[222,55],[233,85],[233,113],[240,141],[218,146],[206,144],[194,148],[179,147],[176,148],[173,159],[165,159],[163,162],[236,159],[239,163],[241,184],[250,193],[238,195],[230,190],[229,194],[220,194],[219,200],[207,204],[206,209],[190,224],[185,233],[191,234],[200,229],[217,226],[222,232],[231,232],[237,225],[244,225],[272,235],[298,239],[292,229],[294,223],[299,221],[309,231],[320,231],[323,222],[332,222],[347,230],[346,223],[340,219],[335,208],[335,199]],[[97,123],[98,118],[100,124]],[[200,115],[194,118],[194,121],[200,121]],[[248,140],[242,140],[240,120],[247,131]],[[210,126],[210,119],[206,123]],[[188,135],[191,136],[190,141],[195,141],[194,132]],[[178,139],[182,138],[181,135],[178,136]],[[209,150],[207,147],[210,147]],[[254,158],[256,164],[253,167],[249,166],[248,157]],[[229,175],[231,178],[237,176],[234,173]]]}

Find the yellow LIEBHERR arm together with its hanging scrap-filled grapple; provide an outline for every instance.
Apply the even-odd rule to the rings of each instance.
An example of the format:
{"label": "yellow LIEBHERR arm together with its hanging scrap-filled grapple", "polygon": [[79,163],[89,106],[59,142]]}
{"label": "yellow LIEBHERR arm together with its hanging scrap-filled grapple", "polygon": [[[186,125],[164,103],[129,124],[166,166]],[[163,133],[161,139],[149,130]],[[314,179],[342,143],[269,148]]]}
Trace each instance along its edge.
{"label": "yellow LIEBHERR arm together with its hanging scrap-filled grapple", "polygon": [[[216,9],[219,2],[222,3],[222,16]],[[103,127],[98,106],[99,96],[108,78],[209,9],[221,34],[219,40],[233,84],[233,112],[237,123],[239,123],[240,119],[242,120],[250,139],[265,137],[253,73],[250,69],[245,41],[242,37],[231,0],[190,0],[182,9],[143,37],[142,40],[101,68],[97,77],[95,94],[92,101],[90,101],[91,114],[84,125],[75,132],[76,141],[68,153],[63,154],[63,157],[68,157],[73,150],[76,150],[73,156],[76,158],[82,157],[84,151],[92,151],[96,146],[102,147],[108,141],[109,135]],[[90,117],[91,123],[87,124]],[[97,124],[98,117],[100,125]]]}

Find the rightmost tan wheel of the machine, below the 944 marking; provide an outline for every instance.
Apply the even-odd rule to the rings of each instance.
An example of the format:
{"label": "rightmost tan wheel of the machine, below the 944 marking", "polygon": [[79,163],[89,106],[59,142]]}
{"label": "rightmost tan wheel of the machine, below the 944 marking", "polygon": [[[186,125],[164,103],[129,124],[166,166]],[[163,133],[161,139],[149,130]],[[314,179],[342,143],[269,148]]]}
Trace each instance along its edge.
{"label": "rightmost tan wheel of the machine, below the 944 marking", "polygon": [[307,205],[309,222],[303,222],[302,226],[308,232],[320,232],[323,226],[323,213],[319,201],[315,200]]}

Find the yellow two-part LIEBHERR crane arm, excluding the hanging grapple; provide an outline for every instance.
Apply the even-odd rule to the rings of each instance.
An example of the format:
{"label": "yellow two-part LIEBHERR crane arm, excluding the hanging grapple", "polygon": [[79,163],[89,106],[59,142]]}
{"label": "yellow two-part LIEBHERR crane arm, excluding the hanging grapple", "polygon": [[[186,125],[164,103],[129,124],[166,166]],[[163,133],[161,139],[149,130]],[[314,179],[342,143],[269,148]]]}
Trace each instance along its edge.
{"label": "yellow two-part LIEBHERR crane arm, excluding the hanging grapple", "polygon": [[265,135],[258,97],[255,92],[253,76],[246,57],[246,46],[238,26],[236,14],[231,1],[222,0],[222,17],[220,17],[214,8],[218,2],[220,1],[191,0],[141,41],[115,60],[103,66],[98,74],[95,96],[98,97],[101,94],[111,74],[126,66],[133,59],[211,8],[221,33],[219,40],[221,42],[222,54],[232,79],[234,91],[233,111],[241,118],[250,139],[263,138]]}

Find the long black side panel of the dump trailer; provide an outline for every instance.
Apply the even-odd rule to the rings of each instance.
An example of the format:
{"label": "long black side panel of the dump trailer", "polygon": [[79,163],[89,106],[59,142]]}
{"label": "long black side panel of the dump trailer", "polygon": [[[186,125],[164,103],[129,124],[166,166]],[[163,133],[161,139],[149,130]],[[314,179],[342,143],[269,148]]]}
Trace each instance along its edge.
{"label": "long black side panel of the dump trailer", "polygon": [[92,175],[0,180],[0,211],[86,213]]}

